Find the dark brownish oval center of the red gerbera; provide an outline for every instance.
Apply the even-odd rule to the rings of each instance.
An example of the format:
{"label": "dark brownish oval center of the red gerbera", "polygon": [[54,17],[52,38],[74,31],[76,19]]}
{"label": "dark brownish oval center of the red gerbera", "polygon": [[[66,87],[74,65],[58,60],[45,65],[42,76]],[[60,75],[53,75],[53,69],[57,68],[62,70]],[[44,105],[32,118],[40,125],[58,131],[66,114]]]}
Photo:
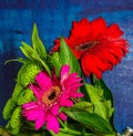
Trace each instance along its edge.
{"label": "dark brownish oval center of the red gerbera", "polygon": [[92,46],[96,45],[99,41],[90,41],[90,42],[84,42],[82,44],[75,45],[74,49],[76,51],[86,51],[91,49]]}

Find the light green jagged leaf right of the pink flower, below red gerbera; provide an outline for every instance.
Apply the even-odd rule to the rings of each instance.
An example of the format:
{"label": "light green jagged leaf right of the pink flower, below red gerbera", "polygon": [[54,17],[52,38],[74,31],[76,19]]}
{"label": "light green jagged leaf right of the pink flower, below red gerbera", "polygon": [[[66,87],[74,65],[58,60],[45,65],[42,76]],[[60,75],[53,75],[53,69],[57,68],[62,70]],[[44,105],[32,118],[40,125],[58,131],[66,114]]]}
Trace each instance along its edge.
{"label": "light green jagged leaf right of the pink flower, below red gerbera", "polygon": [[110,101],[106,101],[103,96],[103,90],[94,87],[90,84],[85,84],[86,92],[91,98],[91,103],[94,105],[94,113],[109,121],[113,107],[110,104]]}

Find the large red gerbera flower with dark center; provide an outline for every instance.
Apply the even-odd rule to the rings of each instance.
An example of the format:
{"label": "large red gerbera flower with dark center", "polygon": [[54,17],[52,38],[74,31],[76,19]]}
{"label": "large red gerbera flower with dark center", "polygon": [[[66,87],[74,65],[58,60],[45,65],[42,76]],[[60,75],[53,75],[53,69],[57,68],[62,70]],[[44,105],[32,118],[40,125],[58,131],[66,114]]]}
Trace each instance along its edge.
{"label": "large red gerbera flower with dark center", "polygon": [[[72,29],[65,42],[80,60],[82,71],[86,76],[91,73],[98,79],[102,72],[112,70],[127,53],[129,44],[121,38],[123,31],[117,24],[106,25],[103,18],[89,22],[82,19],[72,23]],[[60,39],[54,41],[52,51],[58,51]]]}

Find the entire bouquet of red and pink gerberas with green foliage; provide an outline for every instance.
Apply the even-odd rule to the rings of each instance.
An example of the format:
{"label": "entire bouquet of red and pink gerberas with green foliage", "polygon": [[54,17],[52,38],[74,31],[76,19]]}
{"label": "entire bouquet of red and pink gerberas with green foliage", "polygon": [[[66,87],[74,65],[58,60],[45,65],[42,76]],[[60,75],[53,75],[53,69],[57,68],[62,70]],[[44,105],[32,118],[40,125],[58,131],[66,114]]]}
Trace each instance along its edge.
{"label": "entire bouquet of red and pink gerberas with green foliage", "polygon": [[[32,45],[22,42],[25,57],[12,96],[3,108],[2,136],[117,136],[113,97],[102,80],[127,53],[117,24],[103,18],[73,21],[69,38],[58,38],[50,53],[33,25]],[[7,61],[7,62],[10,62]]]}

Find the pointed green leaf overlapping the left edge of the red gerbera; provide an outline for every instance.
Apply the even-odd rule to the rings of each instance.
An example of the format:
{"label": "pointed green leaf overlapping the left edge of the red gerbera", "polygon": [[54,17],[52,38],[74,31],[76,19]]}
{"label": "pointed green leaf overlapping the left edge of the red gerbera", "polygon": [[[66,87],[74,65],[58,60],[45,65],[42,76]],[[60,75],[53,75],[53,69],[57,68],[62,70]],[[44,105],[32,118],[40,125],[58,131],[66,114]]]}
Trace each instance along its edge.
{"label": "pointed green leaf overlapping the left edge of the red gerbera", "polygon": [[71,49],[65,43],[64,39],[61,38],[61,45],[60,45],[60,62],[61,65],[69,64],[71,66],[71,73],[78,72],[81,75],[81,69],[78,60],[75,59],[74,54],[72,53]]}

